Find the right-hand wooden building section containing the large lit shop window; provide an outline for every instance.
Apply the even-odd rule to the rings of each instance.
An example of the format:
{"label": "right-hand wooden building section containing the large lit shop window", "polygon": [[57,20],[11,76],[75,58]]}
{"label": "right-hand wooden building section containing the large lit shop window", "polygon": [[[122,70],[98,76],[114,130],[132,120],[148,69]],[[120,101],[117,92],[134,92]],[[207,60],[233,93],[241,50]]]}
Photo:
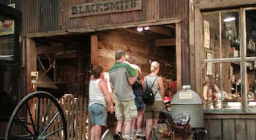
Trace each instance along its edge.
{"label": "right-hand wooden building section containing the large lit shop window", "polygon": [[[255,1],[191,1],[189,48],[208,139],[256,139]],[[195,46],[195,47],[192,47]],[[192,58],[192,59],[194,59]]]}

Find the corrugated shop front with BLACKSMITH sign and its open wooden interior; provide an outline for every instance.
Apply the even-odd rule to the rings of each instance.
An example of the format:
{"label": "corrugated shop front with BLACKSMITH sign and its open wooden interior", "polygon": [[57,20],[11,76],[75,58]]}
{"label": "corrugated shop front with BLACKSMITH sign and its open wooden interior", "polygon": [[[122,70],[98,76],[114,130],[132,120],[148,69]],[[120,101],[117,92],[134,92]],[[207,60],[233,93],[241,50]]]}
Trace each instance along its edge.
{"label": "corrugated shop front with BLACKSMITH sign and its open wooden interior", "polygon": [[33,90],[87,98],[91,67],[108,72],[116,50],[125,50],[144,75],[159,61],[162,77],[177,81],[178,89],[190,83],[186,0],[1,3],[22,12],[19,98]]}

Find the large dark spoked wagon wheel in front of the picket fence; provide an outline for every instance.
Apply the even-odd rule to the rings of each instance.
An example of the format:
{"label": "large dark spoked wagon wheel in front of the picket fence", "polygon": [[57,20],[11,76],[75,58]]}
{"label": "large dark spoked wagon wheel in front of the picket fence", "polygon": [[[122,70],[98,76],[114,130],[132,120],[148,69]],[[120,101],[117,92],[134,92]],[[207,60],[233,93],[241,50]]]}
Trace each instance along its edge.
{"label": "large dark spoked wagon wheel in front of the picket fence", "polygon": [[56,98],[45,91],[25,96],[7,125],[5,140],[9,139],[67,140],[65,116]]}

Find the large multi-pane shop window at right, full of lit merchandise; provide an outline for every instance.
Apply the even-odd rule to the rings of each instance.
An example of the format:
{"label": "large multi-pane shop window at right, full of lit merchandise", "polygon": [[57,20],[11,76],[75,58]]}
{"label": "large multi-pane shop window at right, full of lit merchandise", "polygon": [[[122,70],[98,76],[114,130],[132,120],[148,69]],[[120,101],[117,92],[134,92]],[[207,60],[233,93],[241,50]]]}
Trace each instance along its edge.
{"label": "large multi-pane shop window at right, full of lit merchandise", "polygon": [[[244,11],[202,13],[205,109],[256,109],[256,9]],[[241,35],[244,30],[245,36]]]}

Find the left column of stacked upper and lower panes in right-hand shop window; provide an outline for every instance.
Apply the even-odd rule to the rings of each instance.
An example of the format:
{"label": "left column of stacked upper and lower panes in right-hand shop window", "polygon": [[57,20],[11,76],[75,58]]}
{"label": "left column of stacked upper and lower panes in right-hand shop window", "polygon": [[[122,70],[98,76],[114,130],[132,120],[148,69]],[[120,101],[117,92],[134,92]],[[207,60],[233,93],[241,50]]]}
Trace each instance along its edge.
{"label": "left column of stacked upper and lower panes in right-hand shop window", "polygon": [[202,19],[205,108],[241,109],[239,12],[206,12]]}

